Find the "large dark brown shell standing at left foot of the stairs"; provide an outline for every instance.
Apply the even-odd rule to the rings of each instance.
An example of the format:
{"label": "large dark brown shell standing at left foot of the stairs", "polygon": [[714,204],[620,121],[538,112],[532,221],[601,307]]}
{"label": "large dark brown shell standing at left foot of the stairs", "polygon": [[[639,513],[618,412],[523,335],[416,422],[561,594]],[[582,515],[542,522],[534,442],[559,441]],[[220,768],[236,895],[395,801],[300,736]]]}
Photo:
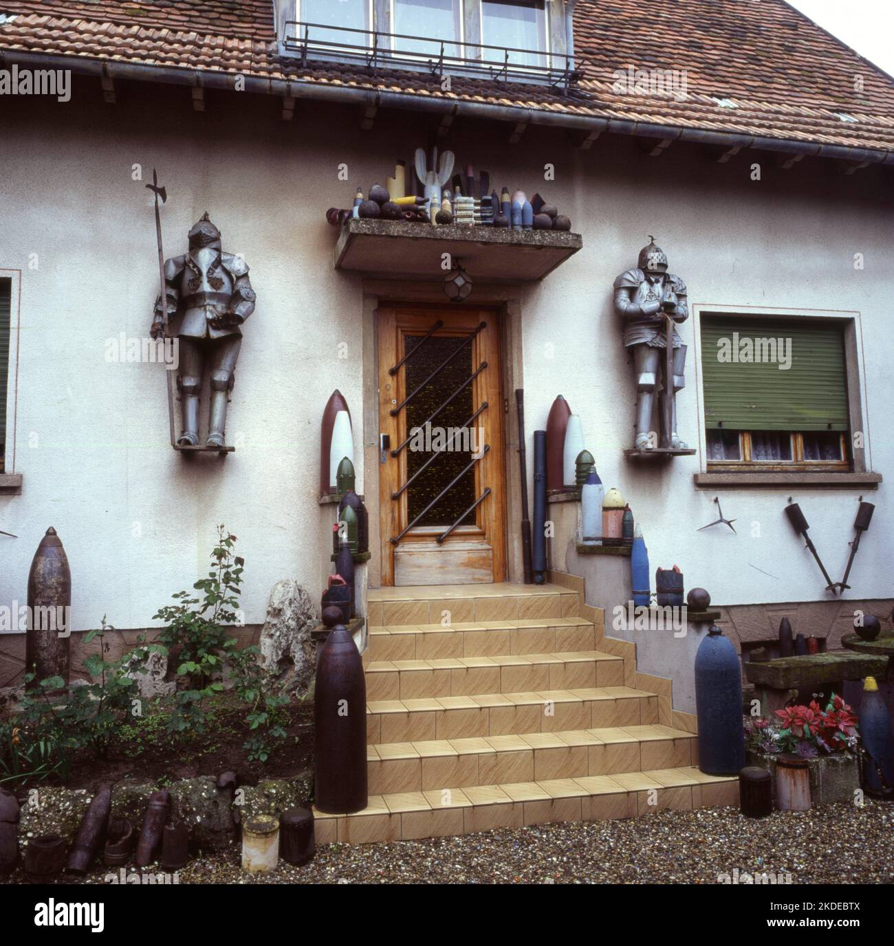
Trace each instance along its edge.
{"label": "large dark brown shell standing at left foot of the stairs", "polygon": [[316,661],[314,804],[330,815],[367,807],[367,683],[363,661],[337,624]]}

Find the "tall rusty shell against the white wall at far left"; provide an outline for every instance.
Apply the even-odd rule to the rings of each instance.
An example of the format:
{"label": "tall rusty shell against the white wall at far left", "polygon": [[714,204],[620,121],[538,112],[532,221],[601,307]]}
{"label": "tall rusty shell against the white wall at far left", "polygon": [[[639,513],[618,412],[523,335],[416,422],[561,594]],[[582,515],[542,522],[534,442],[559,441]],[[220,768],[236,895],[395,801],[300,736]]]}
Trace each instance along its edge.
{"label": "tall rusty shell against the white wall at far left", "polygon": [[[60,637],[71,606],[71,570],[56,530],[50,526],[34,552],[27,587],[25,665],[37,674],[31,686],[49,676],[68,682],[69,639]],[[61,623],[62,622],[62,623]]]}

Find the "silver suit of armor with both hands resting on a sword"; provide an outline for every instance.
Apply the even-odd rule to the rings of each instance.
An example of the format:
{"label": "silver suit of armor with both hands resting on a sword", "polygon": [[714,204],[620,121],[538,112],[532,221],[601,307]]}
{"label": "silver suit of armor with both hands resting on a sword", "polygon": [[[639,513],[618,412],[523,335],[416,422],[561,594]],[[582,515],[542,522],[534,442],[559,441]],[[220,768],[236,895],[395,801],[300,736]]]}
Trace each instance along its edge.
{"label": "silver suit of armor with both hands resting on a sword", "polygon": [[[654,241],[639,253],[637,267],[622,272],[615,280],[615,311],[624,320],[624,344],[633,349],[636,372],[636,439],[637,449],[654,447],[650,435],[655,389],[658,373],[665,390],[665,351],[667,329],[665,316],[675,323],[689,317],[686,284],[679,276],[668,272],[668,257],[655,246]],[[686,384],[686,345],[673,332],[673,397],[671,411],[671,447],[685,449],[686,444],[677,435],[676,394]]]}

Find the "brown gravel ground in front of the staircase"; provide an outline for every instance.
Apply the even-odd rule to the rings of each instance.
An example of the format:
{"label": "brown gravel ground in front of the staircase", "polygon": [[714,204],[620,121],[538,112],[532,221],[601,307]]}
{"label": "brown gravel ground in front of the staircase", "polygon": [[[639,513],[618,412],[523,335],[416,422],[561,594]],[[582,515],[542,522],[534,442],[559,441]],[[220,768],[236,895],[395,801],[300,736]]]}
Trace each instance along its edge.
{"label": "brown gravel ground in front of the staircase", "polygon": [[[894,883],[894,806],[828,805],[744,818],[737,808],[659,812],[375,845],[325,845],[263,877],[237,847],[191,861],[180,884],[716,884],[735,868],[792,884]],[[109,869],[88,883],[104,883]],[[16,872],[8,882],[23,880]]]}

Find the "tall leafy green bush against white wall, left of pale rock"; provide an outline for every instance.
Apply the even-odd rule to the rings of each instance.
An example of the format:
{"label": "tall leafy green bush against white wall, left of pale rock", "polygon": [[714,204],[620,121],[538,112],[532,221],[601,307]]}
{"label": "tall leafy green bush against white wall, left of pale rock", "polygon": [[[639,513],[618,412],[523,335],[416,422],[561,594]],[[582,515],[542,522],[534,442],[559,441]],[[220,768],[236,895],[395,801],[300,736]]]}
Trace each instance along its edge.
{"label": "tall leafy green bush against white wall, left of pale rock", "polygon": [[188,591],[172,595],[177,604],[158,609],[155,620],[166,622],[159,643],[170,657],[177,660],[178,684],[175,710],[169,719],[171,731],[204,732],[205,700],[223,690],[220,676],[226,661],[236,652],[236,639],[225,625],[239,621],[244,559],[233,554],[236,536],[218,526],[218,542],[211,551],[211,569],[192,587],[202,592],[190,596]]}

